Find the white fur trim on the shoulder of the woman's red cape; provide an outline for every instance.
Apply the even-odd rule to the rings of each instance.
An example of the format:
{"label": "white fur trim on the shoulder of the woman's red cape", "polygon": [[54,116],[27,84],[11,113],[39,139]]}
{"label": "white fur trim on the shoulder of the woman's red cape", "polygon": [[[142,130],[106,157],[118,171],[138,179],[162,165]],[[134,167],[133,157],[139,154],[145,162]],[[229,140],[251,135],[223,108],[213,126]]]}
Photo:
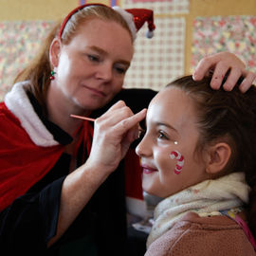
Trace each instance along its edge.
{"label": "white fur trim on the shoulder of the woman's red cape", "polygon": [[28,85],[29,82],[27,81],[15,83],[5,97],[5,103],[12,114],[20,120],[22,127],[36,145],[42,147],[58,145],[59,143],[48,132],[28,100],[25,92]]}

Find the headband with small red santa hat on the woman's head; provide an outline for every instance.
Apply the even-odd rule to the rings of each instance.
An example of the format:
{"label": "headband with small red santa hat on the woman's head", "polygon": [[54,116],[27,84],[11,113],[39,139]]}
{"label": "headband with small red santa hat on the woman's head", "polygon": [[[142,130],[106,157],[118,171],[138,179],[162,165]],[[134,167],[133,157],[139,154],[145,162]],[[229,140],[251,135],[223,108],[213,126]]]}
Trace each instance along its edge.
{"label": "headband with small red santa hat on the woman's head", "polygon": [[[64,18],[64,22],[60,28],[59,31],[59,38],[62,37],[64,27],[66,23],[69,21],[69,19],[74,15],[76,12],[78,12],[80,9],[84,9],[89,6],[103,6],[107,7],[103,4],[85,4],[82,5],[76,9],[71,10],[67,16]],[[110,7],[107,7],[110,8]],[[137,31],[140,27],[144,25],[145,22],[148,22],[148,32],[146,36],[148,38],[152,38],[154,36],[154,30],[155,30],[155,24],[154,24],[154,12],[152,9],[121,9],[119,7],[114,7],[117,12],[123,17],[123,19],[126,21],[128,27],[130,28],[133,39],[135,40],[137,38]]]}

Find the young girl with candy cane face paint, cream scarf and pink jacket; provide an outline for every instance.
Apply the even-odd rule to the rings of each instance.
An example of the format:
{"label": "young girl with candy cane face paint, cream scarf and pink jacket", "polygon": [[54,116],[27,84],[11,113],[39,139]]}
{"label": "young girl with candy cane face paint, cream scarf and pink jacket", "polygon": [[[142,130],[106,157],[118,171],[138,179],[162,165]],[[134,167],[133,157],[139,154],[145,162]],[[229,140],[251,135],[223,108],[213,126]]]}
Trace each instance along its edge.
{"label": "young girl with candy cane face paint, cream scarf and pink jacket", "polygon": [[255,255],[256,89],[209,83],[178,79],[150,103],[137,155],[144,191],[164,199],[147,256]]}

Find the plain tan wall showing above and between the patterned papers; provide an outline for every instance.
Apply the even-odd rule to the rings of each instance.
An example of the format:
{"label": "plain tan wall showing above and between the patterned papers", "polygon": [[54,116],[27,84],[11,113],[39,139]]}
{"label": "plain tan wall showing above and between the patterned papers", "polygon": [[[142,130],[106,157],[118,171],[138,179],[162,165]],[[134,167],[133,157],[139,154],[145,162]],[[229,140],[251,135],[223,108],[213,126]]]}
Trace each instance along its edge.
{"label": "plain tan wall showing above and between the patterned papers", "polygon": [[[106,4],[108,1],[97,2]],[[77,7],[78,3],[78,0],[0,0],[0,20],[56,20]],[[186,73],[191,63],[193,19],[196,16],[216,15],[256,15],[256,0],[191,0],[190,13],[177,15],[186,19]]]}

